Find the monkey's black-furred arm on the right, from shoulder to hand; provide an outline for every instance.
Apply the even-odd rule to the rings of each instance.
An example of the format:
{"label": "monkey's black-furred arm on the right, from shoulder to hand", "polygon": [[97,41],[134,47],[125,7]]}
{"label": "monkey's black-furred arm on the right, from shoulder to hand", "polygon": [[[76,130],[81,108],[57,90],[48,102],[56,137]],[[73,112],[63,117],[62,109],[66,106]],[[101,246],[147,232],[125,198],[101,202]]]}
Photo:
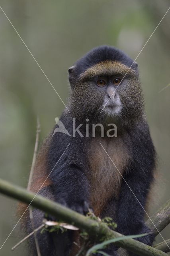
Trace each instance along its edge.
{"label": "monkey's black-furred arm on the right, from shoulder to hand", "polygon": [[[129,131],[131,140],[131,163],[127,166],[122,180],[118,199],[117,224],[120,233],[140,234],[150,230],[144,224],[145,205],[153,172],[156,153],[145,120],[138,122],[133,131]],[[153,236],[138,238],[145,244],[152,244]]]}

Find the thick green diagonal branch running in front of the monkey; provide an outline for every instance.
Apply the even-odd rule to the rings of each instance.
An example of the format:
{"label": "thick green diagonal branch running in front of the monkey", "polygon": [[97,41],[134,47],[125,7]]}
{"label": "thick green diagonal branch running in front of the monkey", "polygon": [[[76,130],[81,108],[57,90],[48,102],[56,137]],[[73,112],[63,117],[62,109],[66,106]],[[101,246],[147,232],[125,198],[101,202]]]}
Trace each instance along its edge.
{"label": "thick green diagonal branch running in front of the monkey", "polygon": [[[33,200],[35,196],[34,193],[28,192],[24,188],[15,186],[1,179],[0,192],[27,204],[30,204],[31,200]],[[39,210],[47,212],[48,214],[52,214],[53,216],[63,220],[64,222],[67,222],[68,224],[72,224],[81,230],[85,230],[89,234],[90,238],[96,242],[100,242],[101,239],[109,240],[111,238],[122,236],[121,234],[108,228],[108,226],[103,222],[91,220],[77,212],[74,212],[73,210],[70,210],[69,208],[62,206],[61,204],[48,200],[43,196],[37,195],[31,202],[31,205],[38,208]],[[115,244],[140,256],[167,255],[160,250],[157,250],[131,238],[121,240]]]}

